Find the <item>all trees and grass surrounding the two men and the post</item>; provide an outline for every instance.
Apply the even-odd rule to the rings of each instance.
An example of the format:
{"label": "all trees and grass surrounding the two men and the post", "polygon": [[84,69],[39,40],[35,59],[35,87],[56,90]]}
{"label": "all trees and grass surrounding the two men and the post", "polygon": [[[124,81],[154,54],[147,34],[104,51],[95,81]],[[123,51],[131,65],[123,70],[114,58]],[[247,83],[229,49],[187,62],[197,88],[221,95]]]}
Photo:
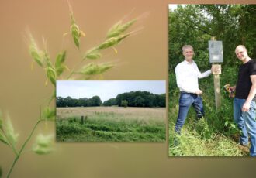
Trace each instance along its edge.
{"label": "all trees and grass surrounding the two men and the post", "polygon": [[[238,149],[239,130],[233,121],[233,98],[224,90],[225,84],[237,82],[240,61],[235,47],[244,44],[255,59],[256,5],[178,5],[169,12],[169,156],[248,156]],[[216,110],[213,77],[199,80],[205,118],[198,121],[190,108],[182,135],[175,135],[178,116],[179,90],[175,80],[175,67],[184,60],[182,46],[194,47],[199,70],[209,70],[208,41],[211,36],[223,41],[224,63],[220,74],[221,107]],[[178,145],[174,145],[177,138]]]}

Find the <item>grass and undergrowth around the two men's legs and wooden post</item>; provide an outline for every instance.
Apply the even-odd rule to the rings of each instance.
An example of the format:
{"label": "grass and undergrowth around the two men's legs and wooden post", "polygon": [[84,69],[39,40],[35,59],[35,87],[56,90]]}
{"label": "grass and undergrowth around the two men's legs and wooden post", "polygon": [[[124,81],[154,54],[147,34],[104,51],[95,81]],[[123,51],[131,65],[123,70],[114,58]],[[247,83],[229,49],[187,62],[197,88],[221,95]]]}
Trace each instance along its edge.
{"label": "grass and undergrowth around the two men's legs and wooden post", "polygon": [[[223,87],[235,84],[236,71],[237,67],[223,67],[225,75],[220,75],[221,107],[218,110],[215,108],[213,76],[199,80],[206,115],[198,121],[191,107],[181,135],[174,132],[179,91],[175,74],[169,75],[169,156],[248,156],[248,152],[238,147],[239,130],[233,121],[233,98],[228,97]],[[174,145],[175,137],[178,145]]]}

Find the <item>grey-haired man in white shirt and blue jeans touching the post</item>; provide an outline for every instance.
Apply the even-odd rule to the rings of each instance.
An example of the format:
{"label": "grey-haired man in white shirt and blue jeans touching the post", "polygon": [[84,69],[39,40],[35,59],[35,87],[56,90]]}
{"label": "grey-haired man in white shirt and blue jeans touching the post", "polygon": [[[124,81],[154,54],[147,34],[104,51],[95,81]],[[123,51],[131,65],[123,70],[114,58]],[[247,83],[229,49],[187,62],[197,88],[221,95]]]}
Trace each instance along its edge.
{"label": "grey-haired man in white shirt and blue jeans touching the post", "polygon": [[178,103],[178,118],[175,125],[175,132],[177,133],[181,132],[191,105],[195,108],[198,118],[202,118],[204,115],[202,98],[200,97],[202,90],[199,89],[198,79],[208,77],[212,73],[211,70],[204,73],[199,71],[195,61],[192,60],[194,51],[191,45],[183,46],[182,52],[185,60],[175,67],[176,81],[181,91]]}

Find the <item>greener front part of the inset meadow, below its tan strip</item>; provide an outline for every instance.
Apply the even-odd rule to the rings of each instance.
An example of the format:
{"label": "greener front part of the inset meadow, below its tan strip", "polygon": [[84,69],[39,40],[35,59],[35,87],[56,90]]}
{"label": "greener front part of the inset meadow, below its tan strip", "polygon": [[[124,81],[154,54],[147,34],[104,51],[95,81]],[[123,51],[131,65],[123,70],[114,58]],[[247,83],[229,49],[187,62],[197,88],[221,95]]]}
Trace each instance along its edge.
{"label": "greener front part of the inset meadow, below its tan strip", "polygon": [[[81,118],[57,119],[57,142],[164,142],[164,120],[129,118],[122,113],[95,112]],[[127,118],[128,117],[128,118]]]}

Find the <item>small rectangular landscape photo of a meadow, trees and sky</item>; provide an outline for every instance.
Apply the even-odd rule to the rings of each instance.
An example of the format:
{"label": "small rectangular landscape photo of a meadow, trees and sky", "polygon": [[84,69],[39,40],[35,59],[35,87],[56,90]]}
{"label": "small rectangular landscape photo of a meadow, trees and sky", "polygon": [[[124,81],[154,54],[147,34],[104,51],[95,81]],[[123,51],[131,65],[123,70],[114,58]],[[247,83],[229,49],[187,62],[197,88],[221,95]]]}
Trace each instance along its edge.
{"label": "small rectangular landscape photo of a meadow, trees and sky", "polygon": [[57,142],[164,142],[164,80],[58,80]]}

